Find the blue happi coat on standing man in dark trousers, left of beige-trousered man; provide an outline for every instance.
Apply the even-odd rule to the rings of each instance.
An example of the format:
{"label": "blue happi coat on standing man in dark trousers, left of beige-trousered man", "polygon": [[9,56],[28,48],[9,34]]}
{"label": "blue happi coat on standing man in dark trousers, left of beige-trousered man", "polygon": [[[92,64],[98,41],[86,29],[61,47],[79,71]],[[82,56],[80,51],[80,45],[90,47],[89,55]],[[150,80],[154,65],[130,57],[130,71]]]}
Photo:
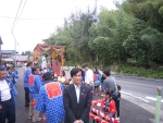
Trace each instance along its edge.
{"label": "blue happi coat on standing man in dark trousers, left of beige-trousered man", "polygon": [[27,67],[24,72],[24,87],[28,87],[28,77],[32,74],[32,69]]}

